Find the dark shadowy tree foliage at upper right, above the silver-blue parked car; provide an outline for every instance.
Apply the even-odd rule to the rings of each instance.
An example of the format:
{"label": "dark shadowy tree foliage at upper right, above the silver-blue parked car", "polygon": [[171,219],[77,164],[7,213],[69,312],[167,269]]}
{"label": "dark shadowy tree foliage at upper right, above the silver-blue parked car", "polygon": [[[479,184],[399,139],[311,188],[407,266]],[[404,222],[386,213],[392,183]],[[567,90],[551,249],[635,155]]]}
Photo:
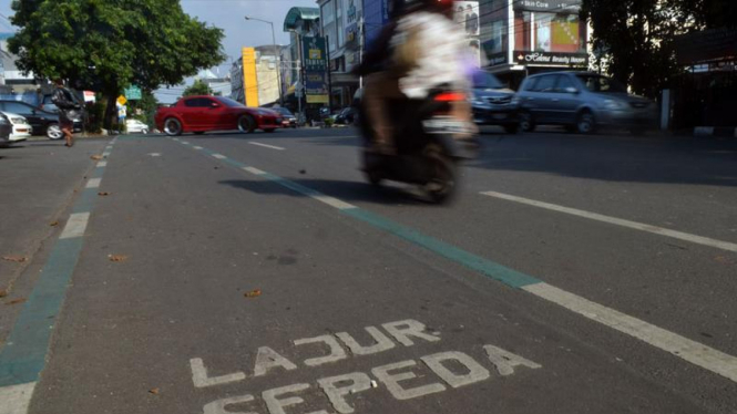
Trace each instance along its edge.
{"label": "dark shadowy tree foliage at upper right, above the silver-blue parked car", "polygon": [[[680,73],[674,38],[689,31],[735,24],[735,0],[583,0],[591,19],[595,65],[655,97]],[[731,13],[725,18],[724,10]],[[718,18],[716,17],[718,15]]]}

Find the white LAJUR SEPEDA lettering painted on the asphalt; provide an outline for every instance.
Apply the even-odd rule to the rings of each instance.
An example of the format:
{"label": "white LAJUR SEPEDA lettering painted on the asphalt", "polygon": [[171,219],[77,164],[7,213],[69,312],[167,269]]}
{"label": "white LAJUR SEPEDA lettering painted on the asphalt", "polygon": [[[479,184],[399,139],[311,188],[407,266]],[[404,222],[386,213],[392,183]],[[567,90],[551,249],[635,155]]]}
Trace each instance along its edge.
{"label": "white LAJUR SEPEDA lettering painted on the asphalt", "polygon": [[[366,332],[372,338],[372,344],[361,345],[356,339],[347,332],[339,332],[335,335],[320,335],[305,338],[293,341],[295,349],[305,349],[315,351],[323,349],[320,356],[304,359],[303,364],[307,368],[318,366],[326,363],[336,363],[347,360],[350,356],[361,356],[389,351],[397,346],[390,339],[393,338],[398,343],[405,346],[414,345],[414,341],[422,340],[427,342],[440,341],[440,333],[428,332],[427,327],[413,319],[389,322],[381,324],[381,328],[388,333],[385,334],[376,327],[366,327]],[[339,340],[339,341],[338,341]],[[347,353],[345,345],[350,354]],[[328,350],[327,355],[325,354]],[[443,351],[421,356],[418,360],[406,360],[390,364],[383,364],[370,370],[370,374],[382,384],[391,396],[398,401],[412,400],[429,394],[441,393],[448,390],[458,389],[487,381],[492,377],[492,372],[500,376],[514,374],[519,368],[536,370],[541,364],[514,354],[495,345],[484,345],[484,359],[477,360],[471,355],[460,351]],[[294,360],[294,359],[293,359]],[[269,346],[260,346],[256,353],[254,363],[254,377],[264,376],[273,370],[280,372],[297,370],[297,364]],[[297,361],[297,360],[294,360]],[[490,363],[484,366],[481,362]],[[421,362],[421,363],[420,363]],[[209,376],[205,363],[199,358],[190,361],[192,369],[192,381],[195,387],[208,387],[223,385],[233,382],[245,381],[245,372],[236,371],[225,375]],[[489,369],[491,368],[491,370]],[[434,375],[427,375],[427,372]],[[423,373],[421,371],[424,371]],[[356,410],[351,405],[351,395],[359,393],[370,393],[376,387],[372,384],[372,377],[365,372],[351,372],[348,374],[317,379],[315,381],[327,402],[332,410],[339,414],[351,414]],[[315,393],[305,393],[314,383],[297,383],[287,386],[280,386],[262,392],[260,400],[266,406],[268,414],[304,413],[306,410],[299,410],[299,405],[307,402],[297,394],[314,396]],[[320,394],[320,395],[323,395]],[[253,408],[258,406],[258,399],[254,394],[244,394],[240,396],[231,396],[207,403],[204,406],[204,414],[257,414],[256,412],[246,412],[239,407],[228,407],[237,404],[247,404]],[[371,394],[367,394],[371,395]],[[309,406],[315,406],[315,403]],[[319,405],[318,405],[319,406]],[[240,411],[234,411],[240,410]],[[328,414],[332,411],[319,410],[310,411],[307,414]]]}

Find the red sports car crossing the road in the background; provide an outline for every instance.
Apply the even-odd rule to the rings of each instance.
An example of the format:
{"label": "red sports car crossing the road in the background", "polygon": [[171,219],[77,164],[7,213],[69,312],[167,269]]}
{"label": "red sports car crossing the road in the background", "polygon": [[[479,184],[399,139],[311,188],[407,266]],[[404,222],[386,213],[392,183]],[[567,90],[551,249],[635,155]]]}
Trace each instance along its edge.
{"label": "red sports car crossing the road in the background", "polygon": [[155,122],[156,128],[172,136],[228,130],[274,132],[282,127],[282,116],[272,110],[247,107],[228,97],[205,95],[186,96],[172,106],[160,107]]}

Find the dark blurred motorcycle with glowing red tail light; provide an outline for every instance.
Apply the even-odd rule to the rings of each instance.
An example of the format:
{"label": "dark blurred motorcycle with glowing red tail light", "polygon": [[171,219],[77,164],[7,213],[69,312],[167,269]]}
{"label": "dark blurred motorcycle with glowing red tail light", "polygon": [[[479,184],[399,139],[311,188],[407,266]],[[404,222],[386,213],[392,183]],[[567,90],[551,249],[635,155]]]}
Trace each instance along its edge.
{"label": "dark blurred motorcycle with glowing red tail light", "polygon": [[[395,155],[372,151],[372,130],[362,102],[358,102],[359,128],[364,137],[362,167],[372,185],[393,180],[418,185],[436,204],[449,200],[458,187],[458,166],[478,152],[475,128],[449,115],[451,104],[465,94],[438,89],[423,100],[388,103],[395,136]],[[462,134],[469,138],[457,139]]]}

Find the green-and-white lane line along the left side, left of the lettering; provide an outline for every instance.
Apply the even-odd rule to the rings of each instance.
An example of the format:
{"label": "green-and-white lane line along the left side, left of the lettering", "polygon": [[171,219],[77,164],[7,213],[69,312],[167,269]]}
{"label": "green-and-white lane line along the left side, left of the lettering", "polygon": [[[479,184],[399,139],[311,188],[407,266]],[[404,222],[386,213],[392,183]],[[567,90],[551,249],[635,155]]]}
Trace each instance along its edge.
{"label": "green-and-white lane line along the left side, left of the lettering", "polygon": [[[110,147],[115,144],[111,141]],[[0,414],[25,414],[45,366],[54,321],[76,267],[84,232],[105,170],[98,161],[54,242],[39,280],[0,349]]]}

